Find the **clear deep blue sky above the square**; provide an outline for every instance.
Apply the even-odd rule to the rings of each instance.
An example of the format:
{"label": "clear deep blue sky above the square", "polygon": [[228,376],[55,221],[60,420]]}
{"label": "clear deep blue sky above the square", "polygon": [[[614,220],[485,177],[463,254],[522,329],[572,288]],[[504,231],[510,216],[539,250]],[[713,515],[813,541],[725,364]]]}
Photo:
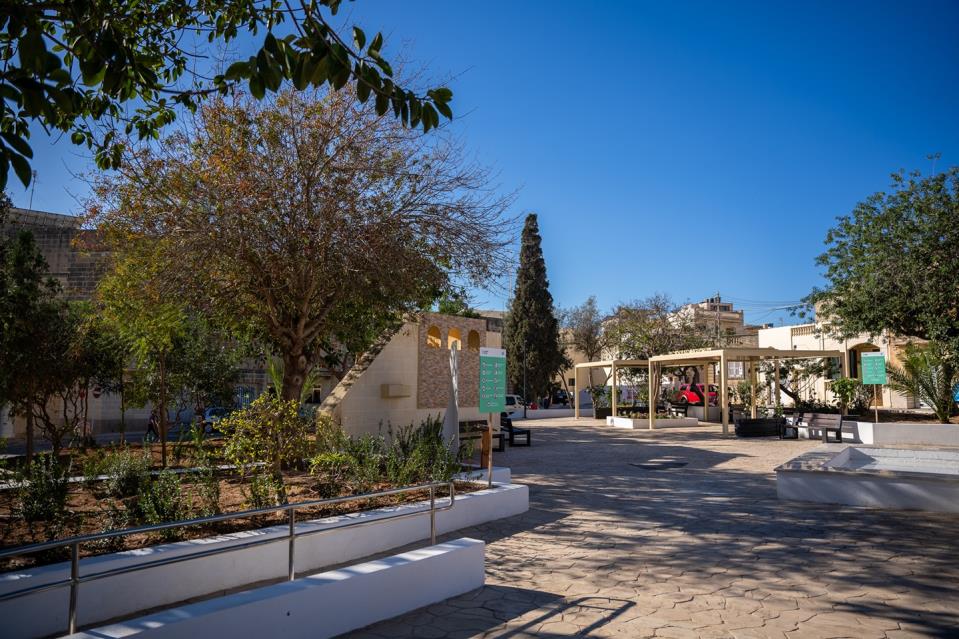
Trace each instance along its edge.
{"label": "clear deep blue sky above the square", "polygon": [[[819,283],[837,215],[931,153],[959,164],[952,0],[358,0],[339,20],[450,78],[454,131],[540,216],[561,306],[718,291],[789,323],[770,309]],[[78,212],[88,161],[34,147],[34,208]]]}

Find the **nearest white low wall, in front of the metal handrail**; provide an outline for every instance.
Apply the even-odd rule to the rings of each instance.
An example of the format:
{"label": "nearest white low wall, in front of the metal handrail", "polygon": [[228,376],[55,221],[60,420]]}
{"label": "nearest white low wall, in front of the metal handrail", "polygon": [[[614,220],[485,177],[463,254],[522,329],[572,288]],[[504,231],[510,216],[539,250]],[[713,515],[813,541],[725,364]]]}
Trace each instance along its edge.
{"label": "nearest white low wall, in front of the metal handrail", "polygon": [[484,547],[482,541],[458,539],[74,636],[333,637],[482,587]]}

